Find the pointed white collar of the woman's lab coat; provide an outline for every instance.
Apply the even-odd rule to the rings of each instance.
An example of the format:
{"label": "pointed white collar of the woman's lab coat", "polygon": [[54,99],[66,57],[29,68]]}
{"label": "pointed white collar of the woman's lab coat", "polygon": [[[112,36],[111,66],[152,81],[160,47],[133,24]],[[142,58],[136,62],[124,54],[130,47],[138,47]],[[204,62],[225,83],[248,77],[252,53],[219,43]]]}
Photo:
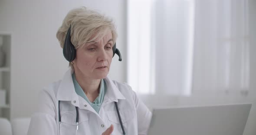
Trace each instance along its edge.
{"label": "pointed white collar of the woman's lab coat", "polygon": [[[58,92],[56,99],[61,101],[72,101],[74,98],[78,98],[78,95],[75,93],[75,88],[72,80],[72,74],[74,70],[69,68],[69,70],[64,74],[62,81],[59,84]],[[125,96],[121,94],[116,85],[110,80],[109,77],[105,79],[107,85],[106,97],[109,100],[118,102],[118,99],[125,100]],[[104,99],[105,100],[105,99]]]}

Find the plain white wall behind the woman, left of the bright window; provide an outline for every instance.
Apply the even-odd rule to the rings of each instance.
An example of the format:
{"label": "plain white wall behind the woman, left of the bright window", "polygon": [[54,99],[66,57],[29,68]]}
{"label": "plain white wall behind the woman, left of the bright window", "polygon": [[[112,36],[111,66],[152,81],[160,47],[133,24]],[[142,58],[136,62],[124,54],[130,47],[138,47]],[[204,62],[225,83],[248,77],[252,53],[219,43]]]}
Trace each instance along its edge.
{"label": "plain white wall behind the woman, left of the bright window", "polygon": [[125,3],[125,0],[0,0],[0,31],[13,33],[11,119],[30,117],[38,91],[62,79],[68,69],[56,32],[72,8],[87,6],[114,19],[123,61],[114,57],[109,76],[126,80]]}

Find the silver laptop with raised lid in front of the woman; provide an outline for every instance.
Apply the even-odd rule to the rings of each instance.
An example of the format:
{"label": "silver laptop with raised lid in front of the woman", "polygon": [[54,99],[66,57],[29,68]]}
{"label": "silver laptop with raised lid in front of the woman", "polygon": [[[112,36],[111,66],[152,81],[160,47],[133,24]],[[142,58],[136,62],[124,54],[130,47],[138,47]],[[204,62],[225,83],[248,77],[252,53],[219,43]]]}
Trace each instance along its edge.
{"label": "silver laptop with raised lid in front of the woman", "polygon": [[243,135],[252,104],[153,109],[148,135]]}

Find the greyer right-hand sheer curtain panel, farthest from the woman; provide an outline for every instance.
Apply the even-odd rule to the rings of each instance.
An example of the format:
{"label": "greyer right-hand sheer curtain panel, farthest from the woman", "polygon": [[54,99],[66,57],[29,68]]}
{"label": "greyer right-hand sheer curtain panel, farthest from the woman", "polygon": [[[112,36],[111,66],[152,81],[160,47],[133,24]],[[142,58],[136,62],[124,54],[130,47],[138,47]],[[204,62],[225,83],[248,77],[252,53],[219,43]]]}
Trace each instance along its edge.
{"label": "greyer right-hand sheer curtain panel, farthest from the woman", "polygon": [[193,90],[247,91],[247,0],[195,0]]}

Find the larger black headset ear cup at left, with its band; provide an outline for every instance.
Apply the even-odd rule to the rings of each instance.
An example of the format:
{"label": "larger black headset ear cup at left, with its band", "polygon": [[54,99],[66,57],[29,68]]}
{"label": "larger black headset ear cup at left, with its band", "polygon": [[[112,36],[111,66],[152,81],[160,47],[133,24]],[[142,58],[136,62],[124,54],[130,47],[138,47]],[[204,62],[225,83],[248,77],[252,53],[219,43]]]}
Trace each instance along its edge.
{"label": "larger black headset ear cup at left, with its band", "polygon": [[71,27],[69,27],[69,30],[66,35],[66,39],[63,46],[63,55],[66,58],[67,61],[71,62],[75,59],[76,50],[75,46],[71,42]]}

